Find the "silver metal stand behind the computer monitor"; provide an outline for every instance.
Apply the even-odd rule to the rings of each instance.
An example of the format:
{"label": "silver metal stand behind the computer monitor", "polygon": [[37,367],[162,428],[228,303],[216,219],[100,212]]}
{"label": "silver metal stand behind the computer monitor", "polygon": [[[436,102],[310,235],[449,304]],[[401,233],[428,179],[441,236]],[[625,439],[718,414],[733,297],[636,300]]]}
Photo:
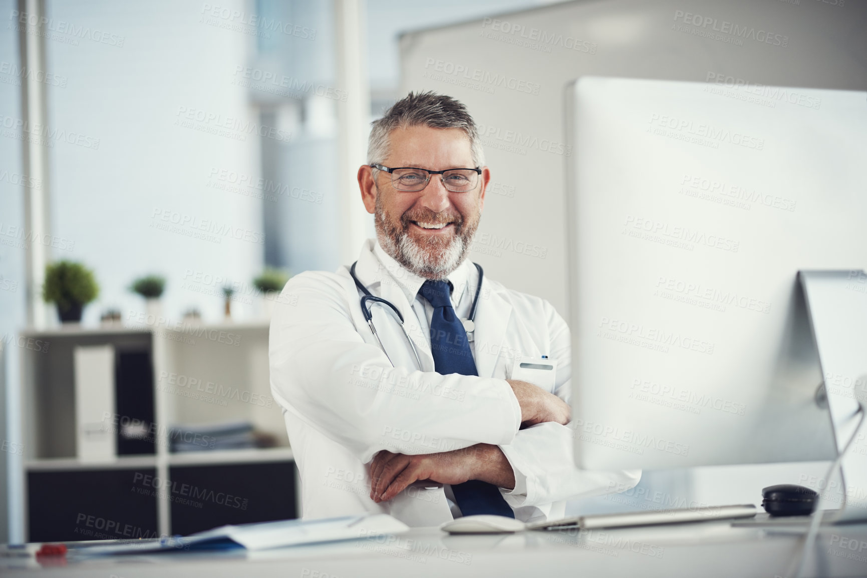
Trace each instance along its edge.
{"label": "silver metal stand behind the computer monitor", "polygon": [[[867,423],[856,432],[867,409],[867,274],[861,270],[799,271],[807,316],[822,368],[818,400],[827,400],[838,453],[852,436],[840,463],[843,507],[832,522],[867,520]],[[830,478],[836,476],[834,472]],[[827,490],[828,480],[819,481]]]}

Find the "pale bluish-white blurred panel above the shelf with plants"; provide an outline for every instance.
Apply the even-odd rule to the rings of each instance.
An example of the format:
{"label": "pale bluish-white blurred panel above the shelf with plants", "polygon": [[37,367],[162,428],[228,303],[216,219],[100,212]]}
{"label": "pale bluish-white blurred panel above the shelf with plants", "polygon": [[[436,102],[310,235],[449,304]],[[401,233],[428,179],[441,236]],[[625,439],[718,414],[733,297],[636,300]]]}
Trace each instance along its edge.
{"label": "pale bluish-white blurred panel above the shelf with plants", "polygon": [[[219,3],[229,10],[246,4]],[[68,79],[65,88],[49,89],[51,127],[99,140],[98,148],[56,142],[49,153],[54,233],[75,243],[74,250],[55,250],[54,257],[83,261],[101,285],[85,322],[95,323],[107,307],[120,308],[125,318],[130,310],[143,311],[143,300],[127,287],[151,272],[168,279],[170,317],[179,319],[194,306],[205,319],[221,319],[221,283],[213,279],[249,287],[263,263],[264,245],[257,242],[262,201],[212,187],[220,184],[215,170],[258,174],[259,136],[218,127],[259,122],[246,89],[234,83],[235,68],[256,37],[221,28],[231,21],[203,14],[203,3],[51,2],[48,12],[56,23],[116,36],[95,42],[58,34],[74,42],[47,41],[49,69]],[[183,110],[216,118],[187,120]],[[225,135],[207,132],[215,130]],[[161,212],[154,218],[155,211],[189,224],[159,230],[154,225],[171,220],[160,220]],[[231,227],[242,238],[188,236],[208,222],[224,231]],[[189,271],[205,281],[197,282]],[[235,308],[249,315],[243,301]]]}

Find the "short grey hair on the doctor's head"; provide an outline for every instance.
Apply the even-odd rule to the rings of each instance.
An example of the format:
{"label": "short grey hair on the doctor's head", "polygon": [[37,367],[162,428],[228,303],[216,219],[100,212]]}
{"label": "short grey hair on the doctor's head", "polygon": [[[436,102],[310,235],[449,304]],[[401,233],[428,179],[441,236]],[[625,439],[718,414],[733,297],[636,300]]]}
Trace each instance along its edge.
{"label": "short grey hair on the doctor's head", "polygon": [[[368,165],[381,164],[388,157],[388,137],[395,128],[460,128],[470,140],[474,166],[485,165],[485,152],[473,117],[460,102],[431,91],[409,93],[394,103],[381,119],[371,123],[368,139]],[[467,167],[469,168],[469,167]]]}

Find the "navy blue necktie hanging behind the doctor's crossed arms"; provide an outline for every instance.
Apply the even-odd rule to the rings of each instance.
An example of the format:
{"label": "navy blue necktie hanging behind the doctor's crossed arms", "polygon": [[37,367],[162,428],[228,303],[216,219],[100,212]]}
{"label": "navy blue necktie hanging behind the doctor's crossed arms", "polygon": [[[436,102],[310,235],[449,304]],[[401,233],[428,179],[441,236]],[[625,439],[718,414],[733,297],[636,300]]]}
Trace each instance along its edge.
{"label": "navy blue necktie hanging behind the doctor's crossed arms", "polygon": [[[426,281],[420,294],[433,305],[431,318],[431,353],[433,368],[437,373],[448,375],[479,375],[473,352],[466,341],[466,330],[457,315],[454,315],[449,286],[446,281]],[[508,503],[505,503],[499,488],[481,480],[470,480],[463,484],[453,484],[452,492],[461,514],[496,514],[515,517]]]}

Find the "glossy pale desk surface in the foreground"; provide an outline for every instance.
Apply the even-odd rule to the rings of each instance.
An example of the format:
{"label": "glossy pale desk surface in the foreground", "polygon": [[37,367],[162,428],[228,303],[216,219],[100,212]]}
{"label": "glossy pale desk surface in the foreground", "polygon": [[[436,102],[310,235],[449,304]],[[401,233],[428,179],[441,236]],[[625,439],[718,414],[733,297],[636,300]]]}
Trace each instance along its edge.
{"label": "glossy pale desk surface in the foreground", "polygon": [[[786,576],[802,533],[705,522],[646,528],[449,536],[415,528],[380,536],[261,552],[178,552],[41,565],[0,558],[3,576]],[[821,529],[806,575],[867,576],[867,524]]]}

